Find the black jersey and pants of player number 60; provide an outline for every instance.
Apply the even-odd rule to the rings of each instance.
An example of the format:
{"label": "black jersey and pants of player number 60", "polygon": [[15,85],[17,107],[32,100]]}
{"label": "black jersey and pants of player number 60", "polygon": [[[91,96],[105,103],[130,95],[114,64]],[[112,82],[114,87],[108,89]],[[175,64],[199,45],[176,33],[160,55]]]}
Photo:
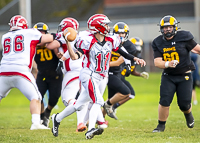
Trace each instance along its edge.
{"label": "black jersey and pants of player number 60", "polygon": [[163,39],[163,36],[153,41],[154,58],[179,61],[176,68],[166,68],[162,73],[159,102],[161,105],[169,106],[176,92],[179,108],[183,111],[190,108],[193,81],[191,73],[186,72],[195,69],[189,51],[196,44],[192,34],[187,31],[177,31],[174,38],[169,41]]}

